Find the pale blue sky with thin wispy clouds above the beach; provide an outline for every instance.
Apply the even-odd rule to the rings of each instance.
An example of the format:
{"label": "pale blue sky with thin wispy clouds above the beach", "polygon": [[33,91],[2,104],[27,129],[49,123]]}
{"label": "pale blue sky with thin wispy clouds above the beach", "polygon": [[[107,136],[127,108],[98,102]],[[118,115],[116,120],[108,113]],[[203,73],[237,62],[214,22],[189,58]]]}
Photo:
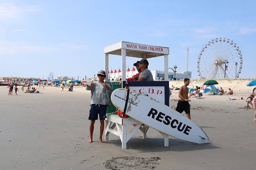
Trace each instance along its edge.
{"label": "pale blue sky with thin wispy clouds above the beach", "polygon": [[[168,66],[178,72],[186,69],[189,46],[188,71],[199,79],[201,49],[222,37],[241,50],[239,78],[255,78],[255,6],[253,0],[0,0],[0,77],[94,77],[105,68],[104,47],[128,41],[169,47]],[[126,69],[138,60],[127,57]],[[148,62],[149,70],[164,70],[163,56]],[[121,70],[121,56],[109,55],[111,68]]]}

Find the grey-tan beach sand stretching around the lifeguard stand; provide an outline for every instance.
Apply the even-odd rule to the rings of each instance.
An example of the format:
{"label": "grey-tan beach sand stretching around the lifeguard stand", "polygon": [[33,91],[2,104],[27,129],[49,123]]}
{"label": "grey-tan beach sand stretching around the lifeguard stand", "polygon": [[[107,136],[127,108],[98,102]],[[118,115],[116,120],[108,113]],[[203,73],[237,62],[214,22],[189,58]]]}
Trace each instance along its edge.
{"label": "grey-tan beach sand stretching around the lifeguard stand", "polygon": [[[203,82],[191,81],[189,87]],[[235,99],[246,99],[254,88],[246,86],[250,81],[218,82],[217,88],[233,89]],[[170,86],[183,84],[170,82]],[[203,94],[202,99],[190,99],[191,119],[212,143],[192,144],[170,137],[169,147],[164,147],[161,134],[149,128],[147,139],[137,131],[122,150],[121,140],[114,134],[109,135],[109,141],[103,135],[104,143],[99,143],[99,121],[95,122],[94,142],[87,143],[90,91],[84,87],[75,87],[74,92],[61,91],[60,87],[37,90],[41,93],[20,90],[17,96],[14,92],[8,96],[7,88],[0,86],[1,169],[255,168],[256,122],[254,111],[245,110],[245,100],[210,93]],[[176,107],[172,99],[178,99],[177,90],[170,97],[170,107]]]}

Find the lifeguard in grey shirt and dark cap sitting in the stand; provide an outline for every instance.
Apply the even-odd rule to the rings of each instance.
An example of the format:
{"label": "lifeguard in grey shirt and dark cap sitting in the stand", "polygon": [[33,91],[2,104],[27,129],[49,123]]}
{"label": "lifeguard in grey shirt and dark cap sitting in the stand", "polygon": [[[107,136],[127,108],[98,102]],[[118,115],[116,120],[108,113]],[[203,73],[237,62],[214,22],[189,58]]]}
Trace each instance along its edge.
{"label": "lifeguard in grey shirt and dark cap sitting in the stand", "polygon": [[154,81],[151,71],[148,70],[148,60],[143,58],[137,62],[141,70],[138,81]]}

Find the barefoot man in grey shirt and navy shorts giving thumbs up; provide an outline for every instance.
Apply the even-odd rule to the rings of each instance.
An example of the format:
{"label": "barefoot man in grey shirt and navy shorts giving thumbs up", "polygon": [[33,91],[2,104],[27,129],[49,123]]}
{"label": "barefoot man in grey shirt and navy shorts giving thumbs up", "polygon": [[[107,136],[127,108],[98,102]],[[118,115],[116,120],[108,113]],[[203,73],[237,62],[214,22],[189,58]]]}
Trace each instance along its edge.
{"label": "barefoot man in grey shirt and navy shorts giving thumbs up", "polygon": [[104,121],[106,118],[107,107],[110,106],[108,94],[112,92],[112,88],[108,83],[104,82],[106,73],[104,70],[100,70],[97,74],[99,81],[91,82],[86,86],[86,90],[91,90],[91,109],[89,111],[90,122],[90,140],[88,143],[92,143],[92,135],[94,129],[95,120],[100,117],[100,143],[104,143],[102,135],[104,131]]}

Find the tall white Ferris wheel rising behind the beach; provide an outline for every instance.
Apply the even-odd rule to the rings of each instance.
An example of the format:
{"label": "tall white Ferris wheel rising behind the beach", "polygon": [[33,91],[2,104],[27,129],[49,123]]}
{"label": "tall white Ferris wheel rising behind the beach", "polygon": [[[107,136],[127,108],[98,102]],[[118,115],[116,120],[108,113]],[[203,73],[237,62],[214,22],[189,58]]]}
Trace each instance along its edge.
{"label": "tall white Ferris wheel rising behind the beach", "polygon": [[200,78],[238,78],[242,65],[242,53],[236,43],[226,38],[216,38],[201,49],[197,72]]}

